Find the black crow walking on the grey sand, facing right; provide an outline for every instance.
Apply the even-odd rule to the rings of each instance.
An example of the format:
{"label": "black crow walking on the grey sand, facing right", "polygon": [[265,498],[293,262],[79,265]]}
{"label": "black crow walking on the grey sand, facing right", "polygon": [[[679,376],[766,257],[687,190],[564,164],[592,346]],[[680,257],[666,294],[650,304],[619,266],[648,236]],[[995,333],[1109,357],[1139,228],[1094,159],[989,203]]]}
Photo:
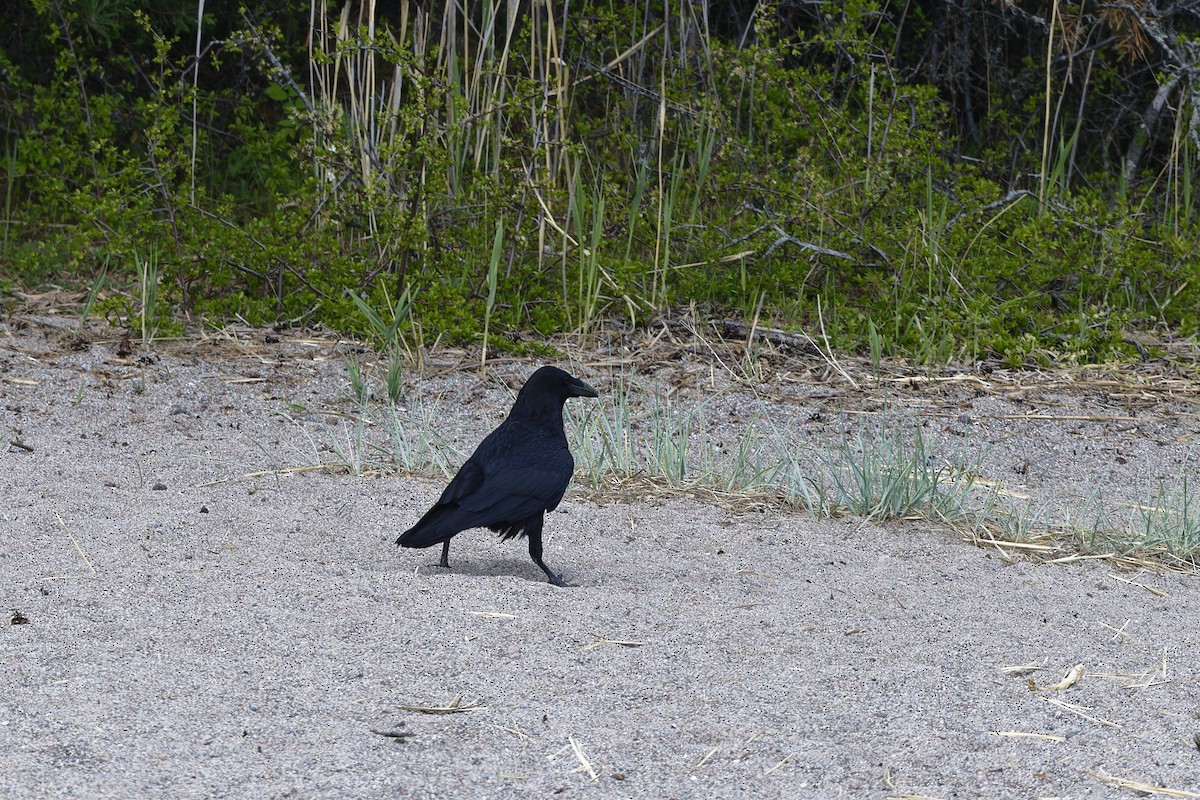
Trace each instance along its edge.
{"label": "black crow walking on the grey sand, facing right", "polygon": [[556,587],[568,585],[541,560],[541,528],[575,473],[563,431],[563,404],[571,397],[599,393],[558,367],[533,373],[508,419],[487,434],[433,507],[396,543],[440,542],[442,566],[449,567],[450,539],[468,528],[488,528],[500,539],[527,536],[533,563]]}

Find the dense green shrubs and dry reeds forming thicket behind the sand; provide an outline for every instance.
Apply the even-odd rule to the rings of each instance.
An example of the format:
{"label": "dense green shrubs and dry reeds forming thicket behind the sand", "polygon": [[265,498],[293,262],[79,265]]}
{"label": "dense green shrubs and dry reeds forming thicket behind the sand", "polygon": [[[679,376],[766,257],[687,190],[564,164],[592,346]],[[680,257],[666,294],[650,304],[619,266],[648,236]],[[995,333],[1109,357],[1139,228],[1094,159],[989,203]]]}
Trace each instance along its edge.
{"label": "dense green shrubs and dry reeds forming thicket behind the sand", "polygon": [[691,302],[935,363],[1195,333],[1196,12],[368,6],[6,4],[0,290],[493,348]]}

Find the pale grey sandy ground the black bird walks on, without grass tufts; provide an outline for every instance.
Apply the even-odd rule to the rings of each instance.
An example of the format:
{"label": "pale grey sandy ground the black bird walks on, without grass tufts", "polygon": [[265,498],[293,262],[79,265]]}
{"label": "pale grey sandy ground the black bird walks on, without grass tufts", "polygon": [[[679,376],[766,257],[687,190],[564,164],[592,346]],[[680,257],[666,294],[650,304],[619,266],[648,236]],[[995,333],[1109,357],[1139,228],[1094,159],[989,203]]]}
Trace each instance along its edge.
{"label": "pale grey sandy ground the black bird walks on, without grass tufts", "polygon": [[[334,343],[91,338],[0,321],[0,796],[1200,796],[1196,577],[580,492],[546,528],[574,588],[486,531],[445,571],[392,545],[440,482],[272,471],[354,414]],[[469,449],[533,367],[406,387]],[[871,408],[775,389],[797,446]],[[1194,404],[1116,395],[901,404],[1070,507],[1195,465]]]}

